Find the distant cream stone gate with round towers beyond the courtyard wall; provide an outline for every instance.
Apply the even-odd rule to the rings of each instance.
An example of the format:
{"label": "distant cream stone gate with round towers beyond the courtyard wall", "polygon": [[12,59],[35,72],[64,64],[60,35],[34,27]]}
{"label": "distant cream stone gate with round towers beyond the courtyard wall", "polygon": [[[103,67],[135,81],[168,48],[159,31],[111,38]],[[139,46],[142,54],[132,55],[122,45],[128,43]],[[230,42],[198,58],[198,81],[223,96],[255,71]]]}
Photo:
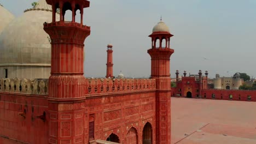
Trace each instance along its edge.
{"label": "distant cream stone gate with round towers beyond the courtyard wall", "polygon": [[233,77],[219,77],[219,74],[216,74],[213,81],[215,89],[239,89],[243,84],[243,79],[240,78],[239,73],[236,73]]}

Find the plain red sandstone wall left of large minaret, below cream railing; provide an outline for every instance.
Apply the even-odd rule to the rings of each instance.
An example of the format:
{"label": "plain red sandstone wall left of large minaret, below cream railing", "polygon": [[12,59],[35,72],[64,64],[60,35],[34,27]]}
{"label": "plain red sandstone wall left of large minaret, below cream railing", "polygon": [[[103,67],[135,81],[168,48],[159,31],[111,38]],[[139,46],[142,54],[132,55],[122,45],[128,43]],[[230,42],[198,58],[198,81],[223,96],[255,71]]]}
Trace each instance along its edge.
{"label": "plain red sandstone wall left of large minaret, below cream railing", "polygon": [[[26,118],[18,115],[24,110]],[[44,111],[47,118],[44,95],[0,92],[0,143],[48,143],[48,118],[37,118]]]}

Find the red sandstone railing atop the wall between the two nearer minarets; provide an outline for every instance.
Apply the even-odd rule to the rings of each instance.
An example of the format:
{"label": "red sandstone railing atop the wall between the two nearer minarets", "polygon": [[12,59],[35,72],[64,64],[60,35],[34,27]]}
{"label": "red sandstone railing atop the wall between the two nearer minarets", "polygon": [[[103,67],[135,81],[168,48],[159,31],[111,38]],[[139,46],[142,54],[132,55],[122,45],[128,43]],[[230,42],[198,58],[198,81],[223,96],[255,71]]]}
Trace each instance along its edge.
{"label": "red sandstone railing atop the wall between the two nearer minarets", "polygon": [[155,79],[86,79],[85,94],[154,90]]}

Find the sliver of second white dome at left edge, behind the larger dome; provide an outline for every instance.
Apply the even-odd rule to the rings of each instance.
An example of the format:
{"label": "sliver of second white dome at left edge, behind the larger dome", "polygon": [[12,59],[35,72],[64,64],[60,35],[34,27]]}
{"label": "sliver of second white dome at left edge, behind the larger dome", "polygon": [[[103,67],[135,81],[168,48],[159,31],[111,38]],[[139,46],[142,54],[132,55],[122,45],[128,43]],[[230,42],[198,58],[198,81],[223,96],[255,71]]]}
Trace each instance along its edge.
{"label": "sliver of second white dome at left edge, behind the larger dome", "polygon": [[0,4],[0,33],[14,18],[14,15]]}

